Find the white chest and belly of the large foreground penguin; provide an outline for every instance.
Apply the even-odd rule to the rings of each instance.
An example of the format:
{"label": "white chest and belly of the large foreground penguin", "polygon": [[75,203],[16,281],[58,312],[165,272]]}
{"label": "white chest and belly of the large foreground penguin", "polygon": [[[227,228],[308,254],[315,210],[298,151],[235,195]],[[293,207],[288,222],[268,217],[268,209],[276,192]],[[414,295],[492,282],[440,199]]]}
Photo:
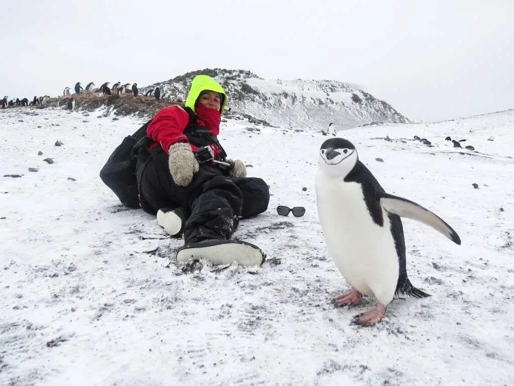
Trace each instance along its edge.
{"label": "white chest and belly of the large foreground penguin", "polygon": [[398,283],[398,256],[387,212],[377,225],[358,183],[316,174],[318,214],[339,272],[359,292],[391,302]]}

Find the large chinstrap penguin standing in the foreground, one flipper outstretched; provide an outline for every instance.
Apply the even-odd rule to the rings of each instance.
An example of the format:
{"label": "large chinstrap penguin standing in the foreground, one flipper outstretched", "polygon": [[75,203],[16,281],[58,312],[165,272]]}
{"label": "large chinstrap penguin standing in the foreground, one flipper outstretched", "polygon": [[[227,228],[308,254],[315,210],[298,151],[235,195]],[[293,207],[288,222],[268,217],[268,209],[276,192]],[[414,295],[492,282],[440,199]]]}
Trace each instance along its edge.
{"label": "large chinstrap penguin standing in the foreground, one flipper outstretched", "polygon": [[461,244],[446,222],[430,210],[384,191],[346,139],[331,138],[321,145],[315,187],[328,251],[351,285],[350,292],[336,296],[334,301],[357,305],[363,294],[377,299],[376,309],[357,315],[355,323],[371,325],[380,321],[395,294],[429,296],[407,277],[400,216],[432,226]]}

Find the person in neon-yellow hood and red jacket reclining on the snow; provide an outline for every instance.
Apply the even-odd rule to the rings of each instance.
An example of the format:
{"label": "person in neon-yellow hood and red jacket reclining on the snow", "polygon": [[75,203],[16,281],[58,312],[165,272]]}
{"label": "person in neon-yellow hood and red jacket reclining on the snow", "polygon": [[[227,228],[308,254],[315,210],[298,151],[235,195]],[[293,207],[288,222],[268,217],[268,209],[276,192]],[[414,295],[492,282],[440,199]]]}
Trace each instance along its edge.
{"label": "person in neon-yellow hood and red jacket reclining on the snow", "polygon": [[[256,245],[231,239],[241,218],[267,210],[269,189],[262,179],[246,177],[242,161],[225,158],[217,135],[226,104],[222,86],[198,75],[186,107],[160,110],[146,129],[155,143],[152,156],[136,166],[140,204],[157,215],[169,235],[183,233],[177,261],[205,258],[250,266],[264,260]],[[204,146],[212,150],[213,161],[199,163],[195,152]]]}

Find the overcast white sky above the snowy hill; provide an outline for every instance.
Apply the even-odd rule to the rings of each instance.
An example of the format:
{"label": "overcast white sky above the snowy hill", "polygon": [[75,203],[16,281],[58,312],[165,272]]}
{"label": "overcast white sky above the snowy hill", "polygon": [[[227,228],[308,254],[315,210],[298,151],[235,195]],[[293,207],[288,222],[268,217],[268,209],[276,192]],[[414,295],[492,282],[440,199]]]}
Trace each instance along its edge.
{"label": "overcast white sky above the snowy hill", "polygon": [[0,94],[242,68],[356,83],[411,119],[449,119],[514,108],[513,21],[513,0],[0,0]]}

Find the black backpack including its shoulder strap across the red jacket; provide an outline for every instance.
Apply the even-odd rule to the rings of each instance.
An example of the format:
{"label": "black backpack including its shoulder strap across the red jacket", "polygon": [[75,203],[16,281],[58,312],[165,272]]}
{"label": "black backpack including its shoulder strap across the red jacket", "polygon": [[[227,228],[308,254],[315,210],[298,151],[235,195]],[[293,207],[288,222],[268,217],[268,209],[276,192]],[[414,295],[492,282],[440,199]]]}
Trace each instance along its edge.
{"label": "black backpack including its shoulder strap across the red jacket", "polygon": [[[189,114],[189,121],[184,134],[189,143],[201,147],[216,144],[219,148],[219,161],[226,162],[227,153],[217,141],[216,137],[211,136],[205,127],[196,123],[196,114],[189,107],[183,108]],[[134,134],[126,136],[121,144],[113,151],[109,159],[100,170],[100,178],[114,194],[120,199],[121,203],[130,208],[140,208],[139,191],[136,178],[136,165],[141,149],[149,149],[153,144],[151,138],[146,136],[146,128],[150,125],[150,119],[141,126]],[[142,151],[144,154],[145,152]],[[148,155],[148,153],[147,153]],[[144,161],[144,160],[142,160]]]}

